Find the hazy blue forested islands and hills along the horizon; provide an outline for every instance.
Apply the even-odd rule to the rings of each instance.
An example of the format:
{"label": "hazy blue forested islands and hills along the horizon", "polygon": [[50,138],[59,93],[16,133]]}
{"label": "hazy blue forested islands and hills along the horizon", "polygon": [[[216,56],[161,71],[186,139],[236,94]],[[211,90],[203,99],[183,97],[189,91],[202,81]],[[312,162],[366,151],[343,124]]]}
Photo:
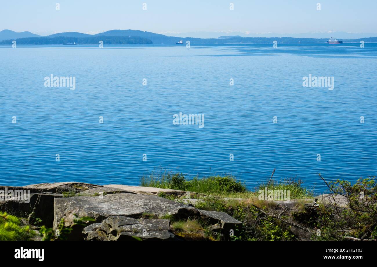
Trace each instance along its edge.
{"label": "hazy blue forested islands and hills along the horizon", "polygon": [[[280,44],[291,43],[326,43],[328,38],[293,38],[293,37],[241,37],[241,36],[220,36],[219,38],[191,38],[174,37],[153,32],[138,30],[111,30],[100,34],[90,35],[80,32],[61,32],[48,36],[35,36],[31,32],[14,32],[3,30],[0,32],[0,44],[175,44],[179,40],[190,41],[190,44],[271,44],[277,41]],[[343,43],[365,43],[377,42],[377,37],[360,39],[343,39]]]}

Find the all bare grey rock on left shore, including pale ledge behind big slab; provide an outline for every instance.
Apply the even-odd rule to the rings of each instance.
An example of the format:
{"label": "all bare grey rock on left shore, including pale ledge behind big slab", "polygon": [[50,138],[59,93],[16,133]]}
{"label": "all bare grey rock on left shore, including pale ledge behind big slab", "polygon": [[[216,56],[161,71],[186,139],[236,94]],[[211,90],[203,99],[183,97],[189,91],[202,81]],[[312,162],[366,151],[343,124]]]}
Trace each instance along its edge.
{"label": "all bare grey rock on left shore, including pale ledge behind big slab", "polygon": [[[64,226],[73,229],[68,240],[184,240],[172,233],[171,218],[206,221],[224,239],[241,227],[240,221],[225,212],[200,210],[157,196],[159,192],[189,198],[195,195],[180,190],[75,182],[0,186],[0,190],[30,192],[28,201],[16,197],[1,200],[0,210],[28,219],[31,226],[42,223],[54,231],[63,219]],[[93,221],[86,221],[85,227],[75,224],[75,218],[86,217]]]}

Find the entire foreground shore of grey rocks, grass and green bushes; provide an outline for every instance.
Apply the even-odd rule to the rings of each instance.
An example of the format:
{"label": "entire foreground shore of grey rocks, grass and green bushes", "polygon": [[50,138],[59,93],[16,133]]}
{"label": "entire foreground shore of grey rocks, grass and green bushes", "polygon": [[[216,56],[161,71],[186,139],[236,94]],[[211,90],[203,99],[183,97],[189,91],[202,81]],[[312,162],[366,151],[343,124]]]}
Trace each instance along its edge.
{"label": "entire foreground shore of grey rocks, grass and green bushes", "polygon": [[[0,240],[376,240],[375,178],[353,186],[323,180],[330,193],[316,197],[300,183],[251,192],[230,177],[176,178],[181,177],[159,184],[164,188],[78,182],[0,186]],[[168,189],[177,187],[187,191]],[[281,196],[286,188],[292,198],[266,198]]]}

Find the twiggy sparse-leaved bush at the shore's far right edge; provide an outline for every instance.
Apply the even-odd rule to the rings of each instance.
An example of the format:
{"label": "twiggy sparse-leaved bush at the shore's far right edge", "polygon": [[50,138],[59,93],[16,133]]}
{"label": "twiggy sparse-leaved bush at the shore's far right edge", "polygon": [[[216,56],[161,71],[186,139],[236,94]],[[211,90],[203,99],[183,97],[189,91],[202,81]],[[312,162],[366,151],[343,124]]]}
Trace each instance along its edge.
{"label": "twiggy sparse-leaved bush at the shore's far right edge", "polygon": [[[322,176],[320,176],[322,178]],[[375,240],[377,239],[377,181],[369,177],[354,185],[345,180],[326,182],[330,203],[319,208],[316,227],[321,230],[319,240]],[[347,207],[337,204],[340,195]]]}

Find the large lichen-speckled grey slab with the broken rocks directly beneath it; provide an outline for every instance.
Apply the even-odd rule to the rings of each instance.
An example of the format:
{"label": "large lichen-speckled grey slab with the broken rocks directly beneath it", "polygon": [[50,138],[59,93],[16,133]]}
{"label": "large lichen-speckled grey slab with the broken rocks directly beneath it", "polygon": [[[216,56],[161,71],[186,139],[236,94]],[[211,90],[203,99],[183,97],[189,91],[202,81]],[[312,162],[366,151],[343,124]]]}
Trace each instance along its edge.
{"label": "large lichen-speckled grey slab with the broken rocks directly beneath it", "polygon": [[[224,236],[241,227],[241,222],[227,213],[198,210],[154,195],[115,193],[103,197],[55,198],[54,210],[54,229],[61,218],[66,226],[72,226],[74,214],[94,218],[95,223],[84,228],[83,234],[84,239],[96,241],[136,240],[135,236],[143,240],[175,240],[170,231],[170,220],[161,218],[166,215],[175,219],[201,218],[208,224],[215,224],[210,229]],[[142,218],[146,215],[156,218]]]}

